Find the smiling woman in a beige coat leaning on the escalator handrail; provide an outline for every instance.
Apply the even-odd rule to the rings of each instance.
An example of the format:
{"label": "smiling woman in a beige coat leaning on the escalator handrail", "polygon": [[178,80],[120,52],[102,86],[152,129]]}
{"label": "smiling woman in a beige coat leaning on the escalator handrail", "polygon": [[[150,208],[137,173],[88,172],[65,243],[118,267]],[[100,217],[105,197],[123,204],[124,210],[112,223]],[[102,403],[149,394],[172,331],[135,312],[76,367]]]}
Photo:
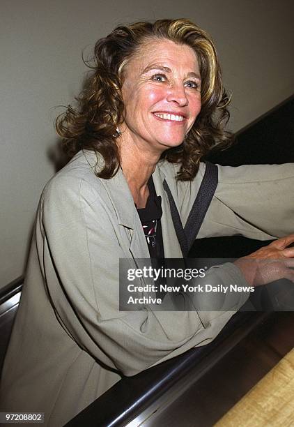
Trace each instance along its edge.
{"label": "smiling woman in a beige coat leaning on the escalator handrail", "polygon": [[[188,20],[118,27],[96,43],[88,87],[57,121],[74,156],[40,200],[2,410],[45,412],[46,425],[61,426],[121,375],[209,343],[244,304],[242,293],[227,312],[118,310],[120,258],[134,265],[183,256],[163,182],[185,224],[205,170],[201,156],[229,137],[227,103],[212,40]],[[199,237],[293,231],[293,177],[292,165],[219,167]],[[251,257],[290,262],[292,241]],[[245,261],[212,275],[246,285],[269,280]],[[271,280],[293,280],[285,263],[268,271]]]}

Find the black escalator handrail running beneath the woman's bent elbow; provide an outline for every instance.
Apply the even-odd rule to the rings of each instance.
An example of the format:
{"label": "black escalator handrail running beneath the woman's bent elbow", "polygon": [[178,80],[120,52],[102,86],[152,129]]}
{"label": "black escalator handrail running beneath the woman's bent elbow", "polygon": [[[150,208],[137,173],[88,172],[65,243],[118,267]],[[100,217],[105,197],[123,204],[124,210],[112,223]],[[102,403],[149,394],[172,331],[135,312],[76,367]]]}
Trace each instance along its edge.
{"label": "black escalator handrail running beneath the woman's bent elbow", "polygon": [[213,359],[217,361],[222,354],[229,352],[256,324],[270,315],[262,312],[236,313],[212,343],[188,350],[133,377],[123,377],[66,426],[125,426],[160,396],[168,393],[178,381],[185,377],[199,377],[201,373],[197,369],[204,373],[206,368],[203,368],[203,363],[205,366],[206,359],[209,358],[210,368]]}

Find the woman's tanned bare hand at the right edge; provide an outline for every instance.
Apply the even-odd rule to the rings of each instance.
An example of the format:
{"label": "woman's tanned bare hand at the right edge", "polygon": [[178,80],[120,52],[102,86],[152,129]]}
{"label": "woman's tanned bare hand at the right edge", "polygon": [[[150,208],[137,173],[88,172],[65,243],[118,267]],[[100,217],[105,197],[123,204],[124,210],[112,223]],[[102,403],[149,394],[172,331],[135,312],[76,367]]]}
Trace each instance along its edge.
{"label": "woman's tanned bare hand at the right edge", "polygon": [[234,264],[252,286],[266,285],[281,278],[294,283],[294,247],[288,248],[293,243],[294,234],[289,234],[236,260]]}

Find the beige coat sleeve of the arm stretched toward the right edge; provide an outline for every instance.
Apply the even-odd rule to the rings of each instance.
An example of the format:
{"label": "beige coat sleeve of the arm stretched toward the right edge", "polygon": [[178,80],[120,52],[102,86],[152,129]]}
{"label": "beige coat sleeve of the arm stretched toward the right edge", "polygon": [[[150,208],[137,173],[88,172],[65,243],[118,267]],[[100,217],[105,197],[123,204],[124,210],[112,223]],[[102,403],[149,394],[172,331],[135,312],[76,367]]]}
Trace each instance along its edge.
{"label": "beige coat sleeve of the arm stretched toward the right edge", "polygon": [[[294,164],[220,166],[219,183],[198,238],[242,236],[270,240],[294,232]],[[201,163],[192,182],[178,183],[183,216],[189,211],[205,171]]]}

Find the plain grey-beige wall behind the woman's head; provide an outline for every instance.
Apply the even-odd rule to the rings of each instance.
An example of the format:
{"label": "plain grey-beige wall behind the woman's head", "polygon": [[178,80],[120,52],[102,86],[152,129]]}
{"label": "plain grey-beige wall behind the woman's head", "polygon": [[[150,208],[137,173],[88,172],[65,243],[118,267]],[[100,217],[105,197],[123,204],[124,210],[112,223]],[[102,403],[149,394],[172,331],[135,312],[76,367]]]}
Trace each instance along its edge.
{"label": "plain grey-beige wall behind the woman's head", "polygon": [[53,122],[79,91],[81,52],[117,24],[189,17],[215,39],[238,130],[294,91],[293,1],[1,0],[0,287],[24,271]]}

